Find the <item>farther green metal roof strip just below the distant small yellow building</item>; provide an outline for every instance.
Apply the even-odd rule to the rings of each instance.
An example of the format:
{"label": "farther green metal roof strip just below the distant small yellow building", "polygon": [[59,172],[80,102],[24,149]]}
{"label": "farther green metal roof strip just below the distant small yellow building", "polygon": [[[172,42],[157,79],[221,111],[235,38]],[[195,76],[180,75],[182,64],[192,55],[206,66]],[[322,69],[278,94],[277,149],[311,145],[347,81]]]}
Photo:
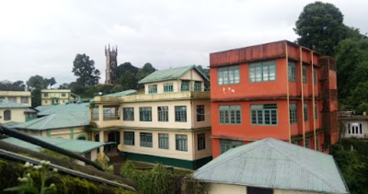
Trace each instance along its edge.
{"label": "farther green metal roof strip just below the distant small yellow building", "polygon": [[89,112],[89,103],[72,103],[67,105],[37,106],[38,116],[45,116],[57,113]]}

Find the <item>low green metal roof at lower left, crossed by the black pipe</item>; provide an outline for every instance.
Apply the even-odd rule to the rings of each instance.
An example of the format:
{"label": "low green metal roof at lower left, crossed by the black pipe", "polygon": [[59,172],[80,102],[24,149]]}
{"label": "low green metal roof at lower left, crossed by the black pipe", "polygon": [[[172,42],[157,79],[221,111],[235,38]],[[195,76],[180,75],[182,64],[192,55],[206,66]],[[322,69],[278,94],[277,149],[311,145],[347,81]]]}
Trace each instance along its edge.
{"label": "low green metal roof at lower left, crossed by the black pipe", "polygon": [[[56,145],[57,147],[77,153],[89,152],[92,149],[96,149],[105,145],[105,143],[103,142],[95,142],[95,141],[71,140],[71,139],[40,137],[40,136],[32,136],[32,137],[37,138],[41,141],[45,141],[49,144]],[[17,138],[13,137],[9,137],[0,141],[7,142],[9,144],[14,144],[23,148],[32,149],[33,151],[40,151],[40,149],[42,149],[42,147],[38,145],[18,140]]]}

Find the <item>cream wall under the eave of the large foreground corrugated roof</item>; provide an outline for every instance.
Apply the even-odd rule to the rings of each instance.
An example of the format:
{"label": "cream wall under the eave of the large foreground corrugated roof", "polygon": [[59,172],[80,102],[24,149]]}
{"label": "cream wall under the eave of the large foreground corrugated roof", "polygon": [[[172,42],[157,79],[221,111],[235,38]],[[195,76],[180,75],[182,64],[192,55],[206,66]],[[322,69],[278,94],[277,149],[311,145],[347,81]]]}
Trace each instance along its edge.
{"label": "cream wall under the eave of the large foreground corrugated roof", "polygon": [[[247,194],[247,186],[243,185],[209,183],[209,187],[210,187],[209,194],[224,194],[224,193]],[[321,193],[274,189],[273,194],[321,194]]]}

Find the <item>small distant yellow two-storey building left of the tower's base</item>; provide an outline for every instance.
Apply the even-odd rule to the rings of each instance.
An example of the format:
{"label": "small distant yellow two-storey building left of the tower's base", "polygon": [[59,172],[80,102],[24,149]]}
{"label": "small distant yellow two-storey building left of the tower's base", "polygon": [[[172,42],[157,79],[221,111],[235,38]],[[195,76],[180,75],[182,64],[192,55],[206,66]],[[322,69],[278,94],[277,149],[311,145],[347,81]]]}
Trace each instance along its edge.
{"label": "small distant yellow two-storey building left of the tower's base", "polygon": [[70,89],[42,89],[41,105],[58,105],[65,104],[70,100],[74,100],[71,96]]}

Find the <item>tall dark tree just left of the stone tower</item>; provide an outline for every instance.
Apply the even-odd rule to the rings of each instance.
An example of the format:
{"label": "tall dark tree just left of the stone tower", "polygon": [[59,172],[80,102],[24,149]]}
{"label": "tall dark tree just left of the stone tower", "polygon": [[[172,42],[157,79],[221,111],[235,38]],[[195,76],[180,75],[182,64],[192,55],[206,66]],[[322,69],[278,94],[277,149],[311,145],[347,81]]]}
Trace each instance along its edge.
{"label": "tall dark tree just left of the stone tower", "polygon": [[73,61],[73,70],[77,82],[84,87],[96,86],[100,79],[100,71],[95,68],[95,61],[86,54],[77,54]]}

